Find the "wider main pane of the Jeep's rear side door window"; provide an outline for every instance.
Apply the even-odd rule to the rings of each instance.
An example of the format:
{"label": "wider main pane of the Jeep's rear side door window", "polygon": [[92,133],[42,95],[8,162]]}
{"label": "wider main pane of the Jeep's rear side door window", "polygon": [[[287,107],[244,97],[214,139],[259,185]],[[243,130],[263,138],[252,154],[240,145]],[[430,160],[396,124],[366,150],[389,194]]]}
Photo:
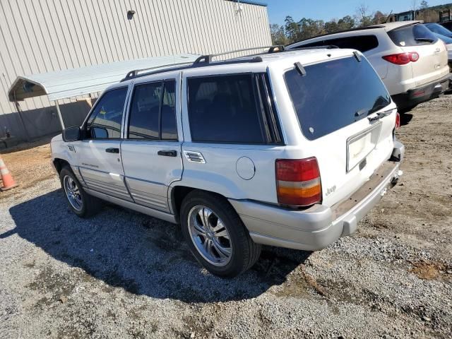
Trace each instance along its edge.
{"label": "wider main pane of the Jeep's rear side door window", "polygon": [[136,85],[129,118],[129,138],[158,139],[162,83]]}

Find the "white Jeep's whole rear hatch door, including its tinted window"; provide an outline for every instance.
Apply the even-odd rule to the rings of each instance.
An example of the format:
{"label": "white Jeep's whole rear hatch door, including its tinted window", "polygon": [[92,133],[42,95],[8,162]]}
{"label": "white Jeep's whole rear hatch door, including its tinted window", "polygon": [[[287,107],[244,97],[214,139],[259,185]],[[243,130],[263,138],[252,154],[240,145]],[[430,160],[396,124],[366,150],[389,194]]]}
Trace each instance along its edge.
{"label": "white Jeep's whole rear hatch door, including its tinted window", "polygon": [[319,162],[323,204],[366,182],[393,150],[396,105],[369,61],[333,59],[285,73],[308,156]]}

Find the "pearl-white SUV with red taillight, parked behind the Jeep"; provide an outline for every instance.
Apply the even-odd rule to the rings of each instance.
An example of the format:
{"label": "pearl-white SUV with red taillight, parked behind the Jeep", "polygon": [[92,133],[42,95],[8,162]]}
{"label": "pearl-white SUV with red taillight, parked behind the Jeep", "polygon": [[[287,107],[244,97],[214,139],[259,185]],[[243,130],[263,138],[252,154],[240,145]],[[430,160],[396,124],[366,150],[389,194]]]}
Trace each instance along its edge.
{"label": "pearl-white SUV with red taillight, parked behind the Jeep", "polygon": [[286,49],[325,45],[362,52],[379,73],[399,112],[438,97],[451,83],[446,45],[422,21],[384,23],[321,35]]}

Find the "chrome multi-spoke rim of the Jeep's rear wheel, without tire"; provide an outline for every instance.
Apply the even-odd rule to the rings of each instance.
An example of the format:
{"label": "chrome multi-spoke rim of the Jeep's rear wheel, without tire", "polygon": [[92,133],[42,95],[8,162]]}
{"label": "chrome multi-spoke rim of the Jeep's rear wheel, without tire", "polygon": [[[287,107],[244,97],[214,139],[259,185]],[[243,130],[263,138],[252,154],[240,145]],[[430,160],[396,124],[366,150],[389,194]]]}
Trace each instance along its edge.
{"label": "chrome multi-spoke rim of the Jeep's rear wheel, without tire", "polygon": [[195,206],[189,212],[189,232],[199,254],[215,266],[225,266],[232,256],[229,232],[218,215],[206,206]]}

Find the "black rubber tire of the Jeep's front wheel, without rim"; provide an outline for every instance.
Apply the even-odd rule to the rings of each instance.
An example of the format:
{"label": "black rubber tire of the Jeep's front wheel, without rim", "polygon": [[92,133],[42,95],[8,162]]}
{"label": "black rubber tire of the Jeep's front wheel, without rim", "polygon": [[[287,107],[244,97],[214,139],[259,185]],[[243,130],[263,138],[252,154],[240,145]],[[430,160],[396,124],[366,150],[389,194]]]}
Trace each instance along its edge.
{"label": "black rubber tire of the Jeep's front wheel, without rim", "polygon": [[[80,193],[81,197],[81,208],[79,209],[75,208],[72,205],[71,201],[69,201],[68,194],[66,193],[66,188],[64,187],[64,180],[66,177],[70,177],[78,188],[78,192]],[[102,208],[102,202],[100,201],[100,199],[95,198],[94,196],[90,196],[85,192],[83,186],[80,184],[75,174],[73,174],[71,167],[63,167],[63,169],[61,169],[61,172],[59,173],[59,179],[61,188],[63,189],[64,197],[69,204],[69,208],[71,208],[73,213],[76,213],[76,215],[78,215],[80,218],[88,218],[92,215],[95,215],[97,212],[99,212],[100,208]]]}

